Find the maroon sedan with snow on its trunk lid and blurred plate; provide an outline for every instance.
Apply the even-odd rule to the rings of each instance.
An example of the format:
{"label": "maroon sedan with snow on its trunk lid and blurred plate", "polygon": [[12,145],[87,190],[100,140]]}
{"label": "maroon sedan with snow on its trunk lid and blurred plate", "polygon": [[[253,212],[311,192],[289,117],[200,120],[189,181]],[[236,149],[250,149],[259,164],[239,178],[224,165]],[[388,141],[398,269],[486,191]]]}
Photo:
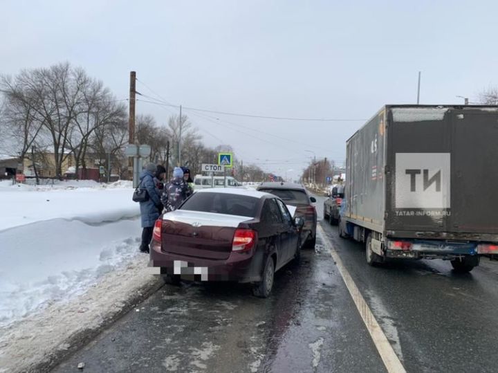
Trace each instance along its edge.
{"label": "maroon sedan with snow on its trunk lid and blurred plate", "polygon": [[156,221],[149,266],[160,267],[169,283],[180,275],[250,282],[266,298],[275,271],[299,261],[303,225],[273,194],[201,189]]}

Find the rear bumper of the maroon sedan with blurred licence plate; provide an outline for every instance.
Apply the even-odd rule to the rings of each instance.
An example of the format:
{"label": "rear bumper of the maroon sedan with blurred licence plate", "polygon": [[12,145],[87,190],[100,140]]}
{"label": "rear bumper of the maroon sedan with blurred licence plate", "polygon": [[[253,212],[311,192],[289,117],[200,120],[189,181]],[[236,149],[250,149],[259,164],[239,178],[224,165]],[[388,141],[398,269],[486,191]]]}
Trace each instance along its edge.
{"label": "rear bumper of the maroon sedan with blurred licence plate", "polygon": [[261,281],[263,255],[255,249],[232,252],[225,260],[213,260],[167,253],[161,250],[159,242],[152,240],[149,257],[149,266],[161,267],[167,275],[181,275],[186,280]]}

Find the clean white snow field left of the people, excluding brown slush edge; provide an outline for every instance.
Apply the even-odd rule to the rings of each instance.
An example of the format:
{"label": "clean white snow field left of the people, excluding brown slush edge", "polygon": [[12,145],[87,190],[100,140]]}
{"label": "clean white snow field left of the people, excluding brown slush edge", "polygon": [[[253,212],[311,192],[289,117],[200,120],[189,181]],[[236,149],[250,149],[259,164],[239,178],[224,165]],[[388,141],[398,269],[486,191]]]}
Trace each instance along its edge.
{"label": "clean white snow field left of the people, excluding brown slush edge", "polygon": [[138,255],[131,182],[0,182],[0,327],[89,289]]}

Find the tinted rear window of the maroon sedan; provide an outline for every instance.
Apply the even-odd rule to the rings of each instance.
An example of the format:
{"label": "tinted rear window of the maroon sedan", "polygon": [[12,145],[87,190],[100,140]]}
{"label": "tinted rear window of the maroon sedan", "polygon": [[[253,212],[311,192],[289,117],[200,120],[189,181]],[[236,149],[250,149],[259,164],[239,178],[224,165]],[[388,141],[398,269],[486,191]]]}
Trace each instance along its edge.
{"label": "tinted rear window of the maroon sedan", "polygon": [[241,194],[195,193],[179,209],[255,217],[258,203],[258,198]]}

